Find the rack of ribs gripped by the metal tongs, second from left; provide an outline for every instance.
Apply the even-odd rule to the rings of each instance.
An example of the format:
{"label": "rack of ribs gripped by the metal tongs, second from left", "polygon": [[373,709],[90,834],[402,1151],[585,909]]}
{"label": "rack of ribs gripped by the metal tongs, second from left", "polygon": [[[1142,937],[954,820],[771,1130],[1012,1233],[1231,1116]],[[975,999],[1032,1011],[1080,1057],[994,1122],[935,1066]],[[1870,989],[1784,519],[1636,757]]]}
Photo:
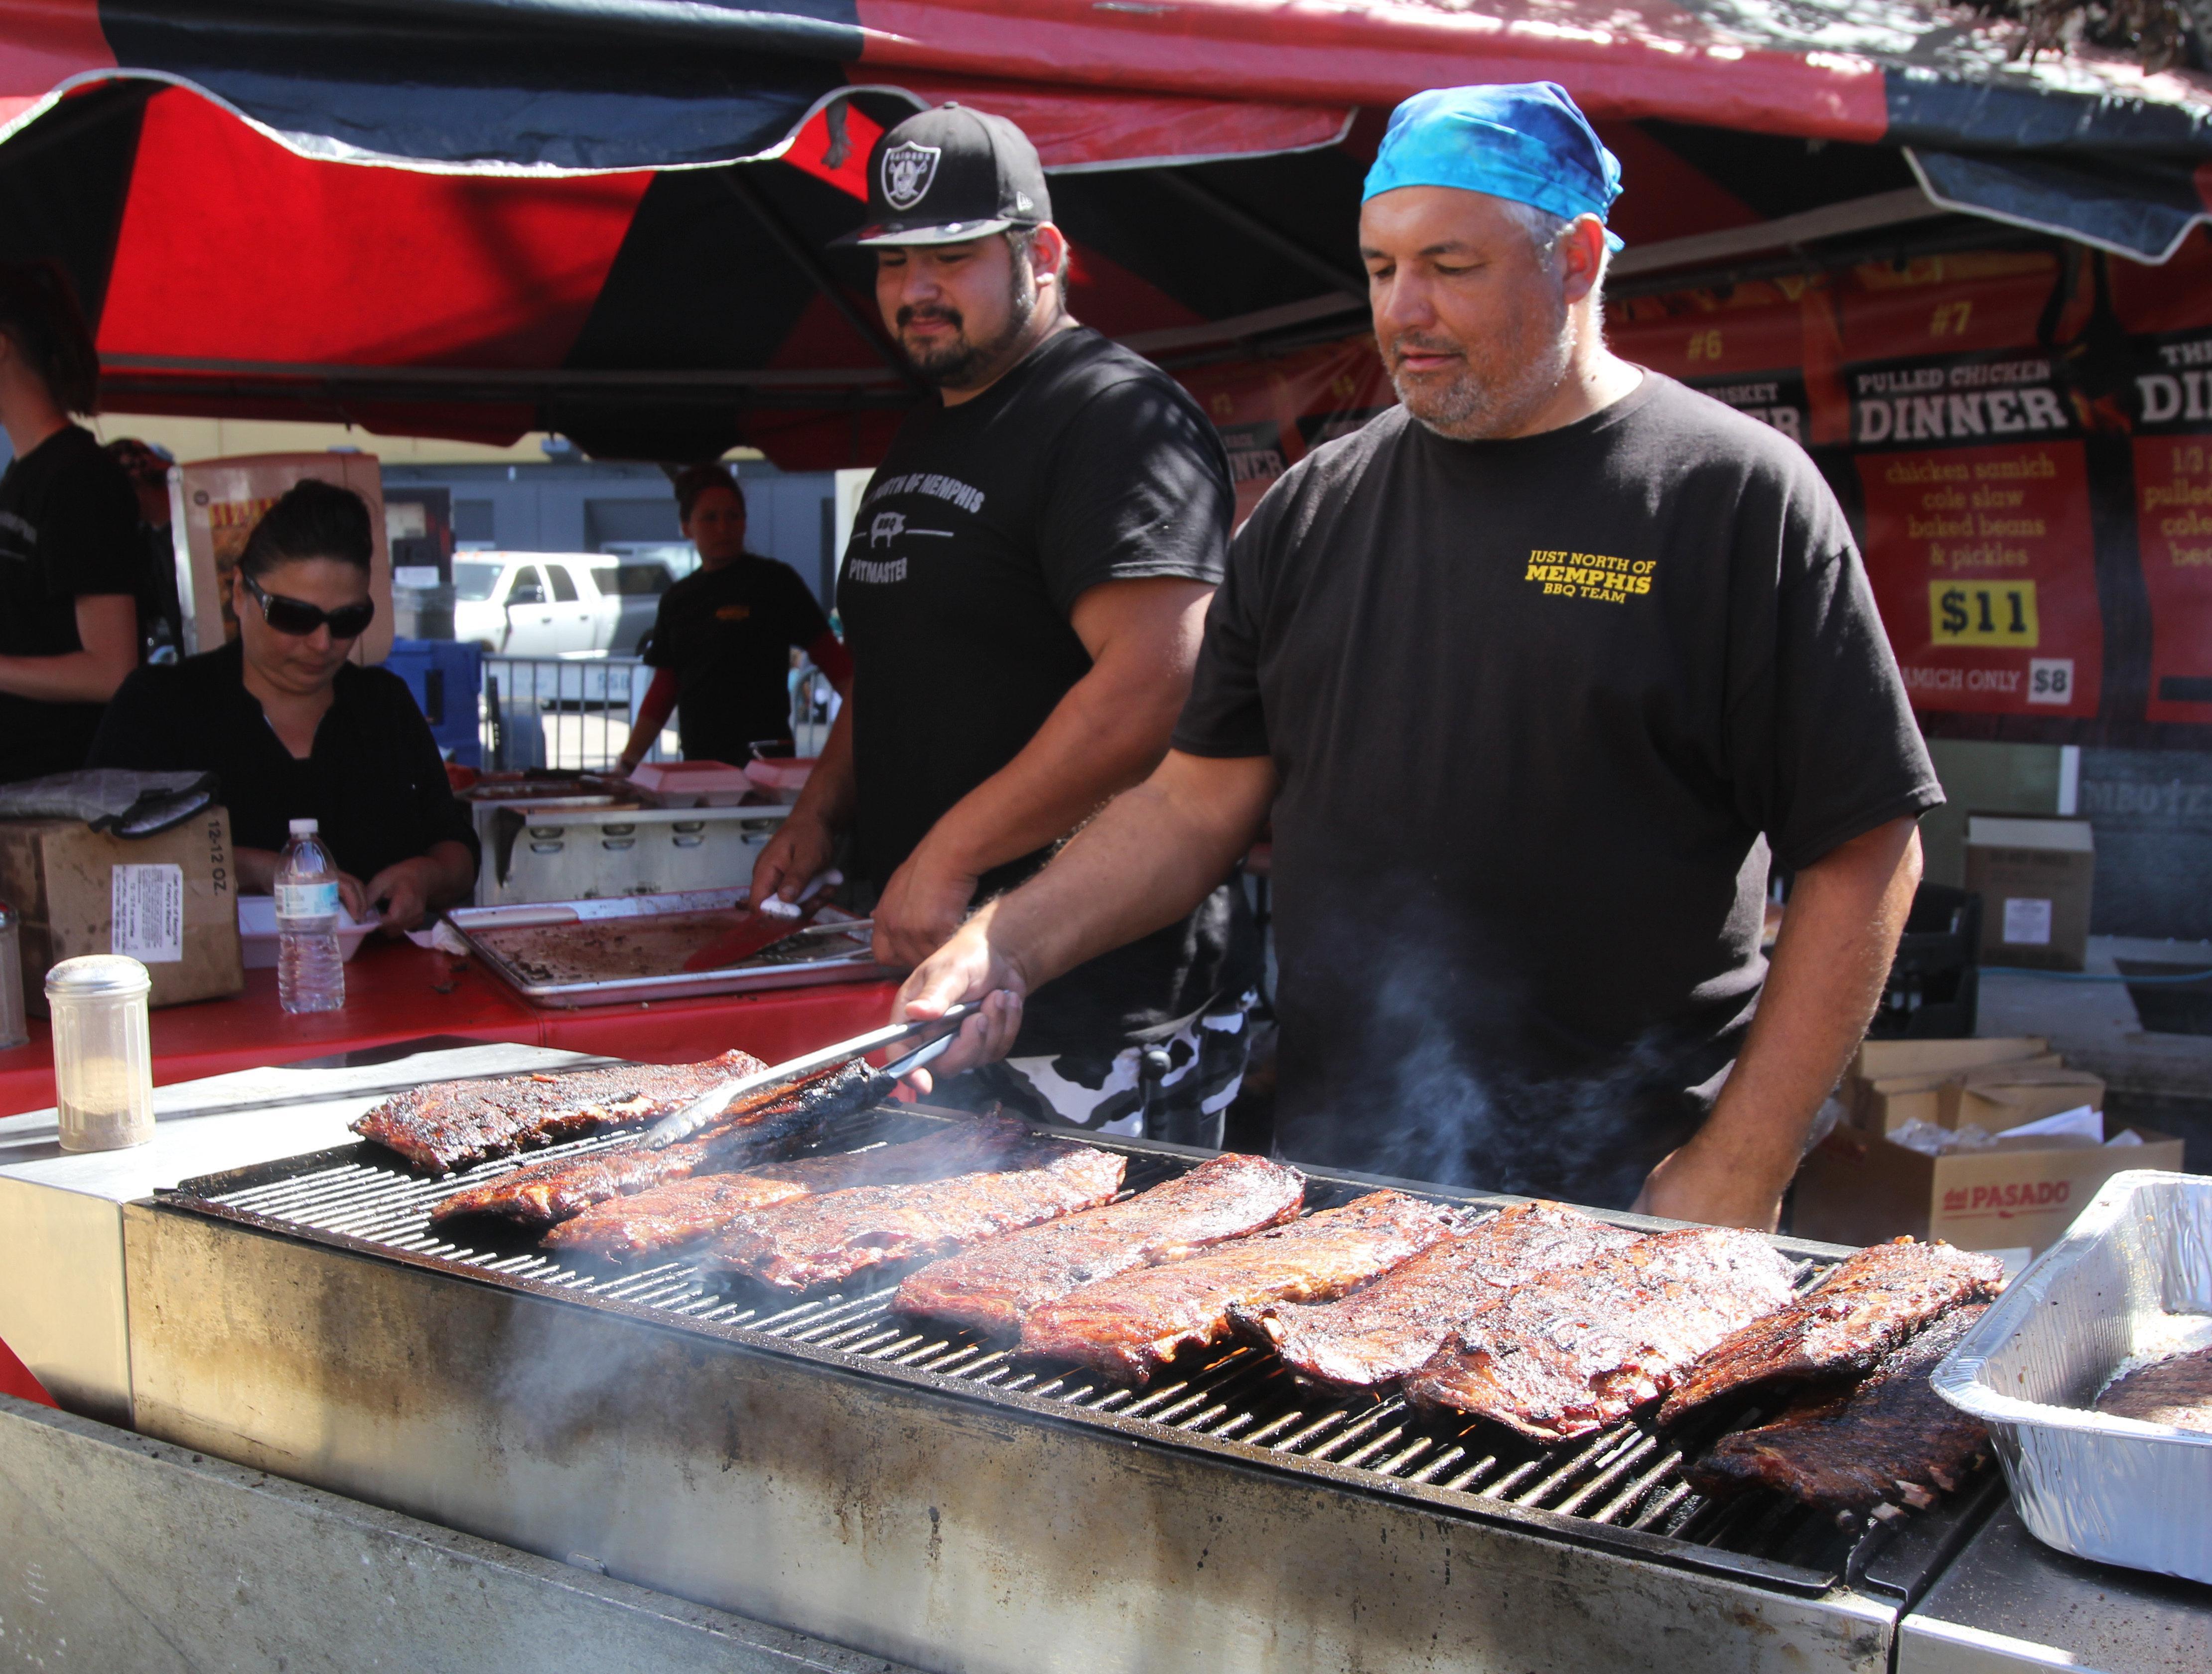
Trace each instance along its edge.
{"label": "rack of ribs gripped by the metal tongs, second from left", "polygon": [[438,1199],[429,1221],[445,1225],[462,1216],[493,1216],[538,1230],[560,1225],[593,1203],[774,1157],[823,1123],[874,1103],[878,1092],[865,1064],[838,1064],[794,1086],[741,1099],[714,1126],[661,1150],[646,1150],[633,1139],[591,1157],[557,1157],[469,1185]]}

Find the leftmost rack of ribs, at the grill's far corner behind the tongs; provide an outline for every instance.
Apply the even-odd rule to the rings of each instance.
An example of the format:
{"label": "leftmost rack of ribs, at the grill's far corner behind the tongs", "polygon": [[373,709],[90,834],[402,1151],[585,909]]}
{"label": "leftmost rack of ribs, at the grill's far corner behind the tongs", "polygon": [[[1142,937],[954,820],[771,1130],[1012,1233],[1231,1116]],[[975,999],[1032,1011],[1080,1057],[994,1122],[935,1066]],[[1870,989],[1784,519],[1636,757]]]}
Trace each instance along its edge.
{"label": "leftmost rack of ribs, at the grill's far corner behind the tongs", "polygon": [[732,1050],[706,1064],[617,1064],[566,1075],[431,1081],[394,1092],[352,1126],[416,1168],[451,1174],[469,1163],[606,1128],[641,1128],[675,1115],[717,1081],[765,1068],[752,1053]]}

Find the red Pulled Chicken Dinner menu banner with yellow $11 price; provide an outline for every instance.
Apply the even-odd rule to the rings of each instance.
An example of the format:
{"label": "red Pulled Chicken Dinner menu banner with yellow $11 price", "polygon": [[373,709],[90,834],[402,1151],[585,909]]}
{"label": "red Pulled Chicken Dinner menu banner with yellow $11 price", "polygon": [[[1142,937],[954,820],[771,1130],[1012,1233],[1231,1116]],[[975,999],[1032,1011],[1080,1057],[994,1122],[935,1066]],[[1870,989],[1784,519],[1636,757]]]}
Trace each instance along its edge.
{"label": "red Pulled Chicken Dinner menu banner with yellow $11 price", "polygon": [[1920,710],[2093,716],[2088,460],[2048,356],[1845,372],[1867,573]]}

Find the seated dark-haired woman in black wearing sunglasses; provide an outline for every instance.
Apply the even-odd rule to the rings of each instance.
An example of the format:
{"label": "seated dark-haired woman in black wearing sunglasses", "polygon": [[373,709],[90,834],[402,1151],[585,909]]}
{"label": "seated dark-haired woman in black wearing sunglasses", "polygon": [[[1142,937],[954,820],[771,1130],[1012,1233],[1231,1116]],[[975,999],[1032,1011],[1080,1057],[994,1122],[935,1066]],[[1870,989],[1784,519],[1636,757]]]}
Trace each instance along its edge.
{"label": "seated dark-haired woman in black wearing sunglasses", "polygon": [[230,575],[239,637],[126,679],[91,765],[217,774],[250,896],[288,823],[321,820],[345,911],[400,933],[469,898],[478,845],[407,683],[347,661],[376,619],[369,551],[361,495],[292,484]]}

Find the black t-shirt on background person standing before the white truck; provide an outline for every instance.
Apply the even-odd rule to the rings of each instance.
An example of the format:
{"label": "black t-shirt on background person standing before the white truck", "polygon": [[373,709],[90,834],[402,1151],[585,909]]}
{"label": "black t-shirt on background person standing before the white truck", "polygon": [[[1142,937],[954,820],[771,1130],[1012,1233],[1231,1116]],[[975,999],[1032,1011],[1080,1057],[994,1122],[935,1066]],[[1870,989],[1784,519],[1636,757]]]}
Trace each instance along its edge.
{"label": "black t-shirt on background person standing before the white truck", "polygon": [[825,632],[807,584],[772,557],[745,553],[668,588],[646,661],[677,674],[684,758],[743,765],[754,741],[790,739],[790,652]]}

